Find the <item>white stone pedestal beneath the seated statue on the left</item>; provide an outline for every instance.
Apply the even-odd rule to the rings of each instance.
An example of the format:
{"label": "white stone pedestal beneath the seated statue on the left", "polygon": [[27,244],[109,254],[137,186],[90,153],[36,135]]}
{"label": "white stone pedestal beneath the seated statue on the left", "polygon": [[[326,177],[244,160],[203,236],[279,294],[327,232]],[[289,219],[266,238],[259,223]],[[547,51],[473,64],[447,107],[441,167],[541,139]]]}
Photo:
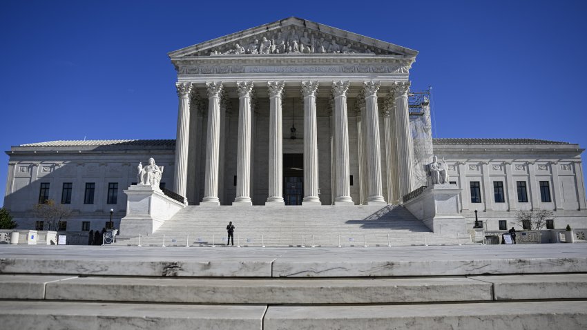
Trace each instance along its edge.
{"label": "white stone pedestal beneath the seated statue on the left", "polygon": [[125,236],[151,235],[185,206],[151,186],[130,186],[124,193],[128,198],[120,233]]}

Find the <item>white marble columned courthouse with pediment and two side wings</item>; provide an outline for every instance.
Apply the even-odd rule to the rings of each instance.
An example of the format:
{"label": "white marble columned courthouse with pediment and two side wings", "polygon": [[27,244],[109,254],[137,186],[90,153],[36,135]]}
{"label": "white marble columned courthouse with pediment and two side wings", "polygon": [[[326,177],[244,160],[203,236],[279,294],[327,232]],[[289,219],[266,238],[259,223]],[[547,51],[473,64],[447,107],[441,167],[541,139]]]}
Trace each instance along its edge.
{"label": "white marble columned courthouse with pediment and two side wings", "polygon": [[[14,146],[4,205],[34,226],[32,205],[50,198],[77,211],[70,230],[102,228],[104,211],[113,208],[116,221],[126,214],[122,190],[149,157],[188,205],[402,204],[430,184],[426,166],[437,155],[468,221],[477,210],[501,229],[518,210],[546,208],[556,228],[587,228],[584,149],[432,139],[426,93],[410,90],[417,54],[295,17],[175,50],[175,140]],[[76,193],[68,200],[64,191]]]}

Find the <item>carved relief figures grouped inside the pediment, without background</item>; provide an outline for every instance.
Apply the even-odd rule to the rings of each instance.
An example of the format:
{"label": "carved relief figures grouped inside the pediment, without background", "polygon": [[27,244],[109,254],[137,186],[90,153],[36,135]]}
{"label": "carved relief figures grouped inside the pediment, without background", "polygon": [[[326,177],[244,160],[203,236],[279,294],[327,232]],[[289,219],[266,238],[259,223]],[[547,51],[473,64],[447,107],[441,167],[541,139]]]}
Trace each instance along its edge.
{"label": "carved relief figures grouped inside the pediment, without background", "polygon": [[[246,42],[246,41],[245,41]],[[233,48],[213,50],[210,55],[241,55],[241,54],[288,54],[288,53],[331,53],[331,54],[374,54],[365,45],[363,49],[353,48],[351,43],[336,43],[336,39],[325,39],[324,37],[316,38],[314,34],[309,34],[304,30],[302,34],[293,26],[289,26],[285,32],[277,32],[276,35],[263,35],[260,40],[255,37],[250,43],[235,43]]]}

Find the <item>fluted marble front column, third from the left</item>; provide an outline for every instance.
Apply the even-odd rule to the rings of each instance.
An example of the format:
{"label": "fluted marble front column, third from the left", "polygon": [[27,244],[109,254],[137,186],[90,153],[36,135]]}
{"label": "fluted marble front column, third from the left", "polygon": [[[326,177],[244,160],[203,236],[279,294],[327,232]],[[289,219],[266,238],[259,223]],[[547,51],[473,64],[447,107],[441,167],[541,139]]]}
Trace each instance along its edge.
{"label": "fluted marble front column, third from the left", "polygon": [[233,205],[251,206],[251,91],[252,81],[237,81],[238,141],[236,157],[236,197]]}

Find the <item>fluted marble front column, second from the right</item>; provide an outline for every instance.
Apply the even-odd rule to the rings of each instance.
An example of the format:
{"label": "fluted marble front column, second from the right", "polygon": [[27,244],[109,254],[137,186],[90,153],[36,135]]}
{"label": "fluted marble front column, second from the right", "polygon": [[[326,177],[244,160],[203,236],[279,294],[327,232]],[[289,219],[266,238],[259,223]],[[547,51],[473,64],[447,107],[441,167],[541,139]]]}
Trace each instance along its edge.
{"label": "fluted marble front column, second from the right", "polygon": [[383,199],[381,183],[381,142],[379,139],[379,110],[377,108],[377,92],[379,84],[365,82],[365,124],[367,132],[367,205],[387,204]]}

